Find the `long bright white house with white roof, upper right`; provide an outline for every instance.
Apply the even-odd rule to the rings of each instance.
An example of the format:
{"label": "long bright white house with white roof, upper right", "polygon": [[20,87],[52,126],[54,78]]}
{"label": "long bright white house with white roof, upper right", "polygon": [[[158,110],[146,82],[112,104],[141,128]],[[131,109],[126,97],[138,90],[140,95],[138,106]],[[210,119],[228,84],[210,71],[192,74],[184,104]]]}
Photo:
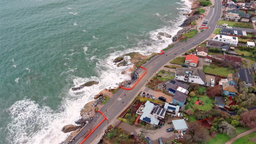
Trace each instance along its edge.
{"label": "long bright white house with white roof, upper right", "polygon": [[212,41],[221,41],[226,44],[230,44],[232,46],[237,46],[238,44],[238,38],[237,37],[232,37],[232,36],[227,36],[227,35],[216,35]]}

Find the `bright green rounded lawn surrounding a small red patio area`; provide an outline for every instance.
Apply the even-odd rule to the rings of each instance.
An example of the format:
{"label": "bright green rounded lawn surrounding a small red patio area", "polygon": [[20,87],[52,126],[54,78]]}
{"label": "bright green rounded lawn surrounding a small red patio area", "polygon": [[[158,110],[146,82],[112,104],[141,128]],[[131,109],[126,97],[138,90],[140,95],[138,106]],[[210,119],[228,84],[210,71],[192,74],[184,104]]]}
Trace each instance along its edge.
{"label": "bright green rounded lawn surrounding a small red patio area", "polygon": [[[186,107],[186,109],[191,109],[191,106],[197,106],[198,109],[200,110],[210,110],[212,109],[212,102],[213,102],[213,99],[210,99],[208,96],[200,96],[199,97],[199,100],[203,101],[204,105],[203,106],[200,106],[200,105],[197,105],[195,104],[195,102],[197,101],[197,96],[199,95],[196,95],[194,96],[194,98],[191,99],[190,103],[188,104],[188,106]],[[194,103],[193,103],[194,102]],[[193,109],[193,112],[194,112],[194,109]]]}

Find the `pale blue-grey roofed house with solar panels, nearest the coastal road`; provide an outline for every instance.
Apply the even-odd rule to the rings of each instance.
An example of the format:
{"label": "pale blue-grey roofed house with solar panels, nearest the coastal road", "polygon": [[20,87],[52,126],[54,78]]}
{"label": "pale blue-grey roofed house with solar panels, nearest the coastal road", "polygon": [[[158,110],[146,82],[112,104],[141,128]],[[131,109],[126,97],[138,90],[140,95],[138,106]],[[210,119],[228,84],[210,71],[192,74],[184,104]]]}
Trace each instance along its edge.
{"label": "pale blue-grey roofed house with solar panels, nearest the coastal road", "polygon": [[[165,116],[166,110],[161,108],[160,104],[156,104],[152,101],[147,101],[145,103],[145,106],[142,107],[142,108],[143,109],[140,110],[141,111],[140,113],[142,113],[141,117],[139,118],[140,120],[142,120],[142,121],[144,121],[148,124],[151,124],[151,125],[158,125],[160,120],[163,121],[164,118],[162,119],[162,117]],[[161,111],[160,111],[161,113],[158,113],[158,114],[154,113],[156,108],[157,108],[157,111],[158,111],[159,108],[161,108]]]}

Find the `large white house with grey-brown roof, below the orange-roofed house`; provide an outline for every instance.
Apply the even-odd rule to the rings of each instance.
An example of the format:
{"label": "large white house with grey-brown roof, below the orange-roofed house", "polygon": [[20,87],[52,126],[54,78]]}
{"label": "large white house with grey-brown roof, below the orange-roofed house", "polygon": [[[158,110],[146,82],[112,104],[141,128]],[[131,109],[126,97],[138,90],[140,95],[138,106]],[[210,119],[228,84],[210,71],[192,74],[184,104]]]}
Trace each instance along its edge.
{"label": "large white house with grey-brown roof, below the orange-roofed house", "polygon": [[204,85],[206,74],[197,68],[176,68],[175,79]]}

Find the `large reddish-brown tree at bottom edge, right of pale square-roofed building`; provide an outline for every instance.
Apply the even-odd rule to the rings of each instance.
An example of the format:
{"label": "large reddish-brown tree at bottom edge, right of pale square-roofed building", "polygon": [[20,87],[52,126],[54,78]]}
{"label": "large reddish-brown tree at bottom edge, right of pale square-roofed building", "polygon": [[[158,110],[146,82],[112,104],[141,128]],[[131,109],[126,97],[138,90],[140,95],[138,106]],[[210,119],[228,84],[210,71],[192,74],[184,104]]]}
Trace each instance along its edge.
{"label": "large reddish-brown tree at bottom edge, right of pale square-roofed building", "polygon": [[210,137],[208,131],[202,125],[198,122],[190,122],[184,138],[193,143],[206,143]]}

